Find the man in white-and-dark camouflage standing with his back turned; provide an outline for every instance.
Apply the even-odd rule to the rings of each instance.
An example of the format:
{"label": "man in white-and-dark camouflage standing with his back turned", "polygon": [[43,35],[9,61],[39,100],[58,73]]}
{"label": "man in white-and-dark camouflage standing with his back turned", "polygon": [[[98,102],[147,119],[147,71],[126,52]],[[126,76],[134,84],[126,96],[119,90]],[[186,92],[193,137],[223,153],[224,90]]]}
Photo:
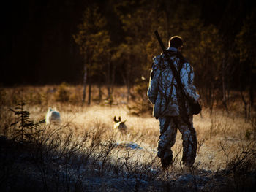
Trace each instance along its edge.
{"label": "man in white-and-dark camouflage standing with his back turned", "polygon": [[175,144],[177,129],[182,134],[182,161],[185,166],[194,164],[197,150],[191,107],[187,99],[181,96],[176,79],[165,58],[165,56],[170,57],[170,61],[180,74],[186,97],[196,102],[199,95],[193,85],[194,72],[192,66],[181,54],[182,47],[181,37],[171,37],[167,48],[168,55],[162,54],[153,58],[148,87],[148,99],[154,104],[153,115],[159,120],[160,136],[157,156],[161,158],[164,169],[173,164],[171,147]]}

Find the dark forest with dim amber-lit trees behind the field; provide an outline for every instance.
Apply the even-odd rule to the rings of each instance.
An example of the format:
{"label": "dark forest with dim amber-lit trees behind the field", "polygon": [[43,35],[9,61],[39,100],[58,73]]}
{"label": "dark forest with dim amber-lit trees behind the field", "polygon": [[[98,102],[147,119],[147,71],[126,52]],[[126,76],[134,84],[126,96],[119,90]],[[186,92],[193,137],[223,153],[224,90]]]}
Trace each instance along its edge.
{"label": "dark forest with dim amber-lit trees behind the field", "polygon": [[157,29],[164,42],[184,38],[208,104],[216,88],[224,101],[230,88],[253,97],[254,1],[14,1],[8,16],[2,85],[83,83],[86,66],[87,82],[129,89],[148,80]]}

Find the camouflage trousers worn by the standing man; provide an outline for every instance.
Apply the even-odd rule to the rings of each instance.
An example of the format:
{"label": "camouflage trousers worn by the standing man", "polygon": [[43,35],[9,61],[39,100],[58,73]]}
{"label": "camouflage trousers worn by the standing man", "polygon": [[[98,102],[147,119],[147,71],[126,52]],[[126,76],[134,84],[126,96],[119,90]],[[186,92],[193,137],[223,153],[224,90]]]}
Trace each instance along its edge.
{"label": "camouflage trousers worn by the standing man", "polygon": [[157,156],[159,158],[173,158],[173,152],[170,148],[175,144],[178,129],[182,134],[183,140],[183,164],[187,166],[194,164],[197,151],[197,138],[192,120],[192,116],[189,117],[189,123],[191,125],[191,128],[189,128],[188,123],[181,117],[159,118],[160,136],[157,148]]}

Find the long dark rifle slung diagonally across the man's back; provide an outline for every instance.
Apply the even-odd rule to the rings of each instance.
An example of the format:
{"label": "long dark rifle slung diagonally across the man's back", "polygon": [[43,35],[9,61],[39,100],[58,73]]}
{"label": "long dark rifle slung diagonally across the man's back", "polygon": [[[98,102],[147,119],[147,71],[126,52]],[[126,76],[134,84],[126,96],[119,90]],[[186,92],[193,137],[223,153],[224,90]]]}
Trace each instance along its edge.
{"label": "long dark rifle slung diagonally across the man's back", "polygon": [[[202,110],[199,102],[197,101],[196,103],[194,103],[193,101],[191,101],[191,99],[184,93],[184,86],[182,85],[181,83],[181,78],[180,78],[180,74],[178,73],[176,67],[173,65],[173,62],[170,61],[170,57],[167,53],[167,50],[165,49],[165,45],[162,43],[162,39],[161,37],[159,36],[158,34],[158,31],[154,31],[154,34],[156,35],[157,37],[157,40],[162,48],[162,52],[165,54],[165,58],[167,59],[167,62],[170,66],[170,69],[172,70],[173,72],[173,76],[174,78],[176,79],[176,82],[178,84],[178,89],[181,91],[181,104],[182,104],[182,108],[184,110],[184,112],[186,111],[187,113],[187,109],[186,109],[186,105],[185,105],[185,100],[187,99],[187,101],[189,101],[189,104],[192,108],[192,114],[198,114],[200,113],[200,111]],[[188,115],[188,114],[187,114]]]}

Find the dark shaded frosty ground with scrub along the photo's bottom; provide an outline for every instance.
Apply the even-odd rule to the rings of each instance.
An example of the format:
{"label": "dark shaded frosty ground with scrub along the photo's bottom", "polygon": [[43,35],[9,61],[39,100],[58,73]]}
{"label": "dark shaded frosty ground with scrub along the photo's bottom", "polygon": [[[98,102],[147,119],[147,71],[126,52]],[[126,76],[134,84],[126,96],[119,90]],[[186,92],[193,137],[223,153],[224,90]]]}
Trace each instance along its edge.
{"label": "dark shaded frosty ground with scrub along the photo's bottom", "polygon": [[[212,172],[177,165],[163,172],[153,161],[140,164],[132,161],[129,155],[108,161],[105,161],[106,155],[100,154],[72,152],[57,155],[49,149],[14,142],[6,137],[0,138],[0,145],[3,191],[20,188],[30,191],[229,191],[237,185],[227,170]],[[120,147],[120,144],[114,145]],[[131,155],[143,151],[135,143],[121,145],[122,150],[126,148],[132,150]],[[251,189],[253,183],[255,185],[255,177],[255,173],[246,177],[246,180],[252,180],[247,189]]]}

